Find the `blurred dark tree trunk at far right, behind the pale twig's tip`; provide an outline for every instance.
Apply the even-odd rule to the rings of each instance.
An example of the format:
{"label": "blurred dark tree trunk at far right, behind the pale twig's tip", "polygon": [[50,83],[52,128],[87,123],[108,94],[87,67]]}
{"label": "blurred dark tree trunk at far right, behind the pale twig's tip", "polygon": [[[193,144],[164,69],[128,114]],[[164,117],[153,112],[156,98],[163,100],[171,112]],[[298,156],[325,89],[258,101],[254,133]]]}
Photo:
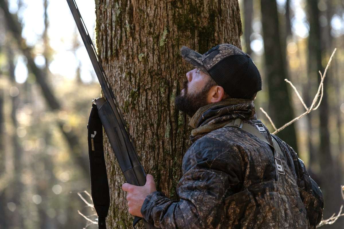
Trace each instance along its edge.
{"label": "blurred dark tree trunk at far right, behind the pale twig's tip", "polygon": [[[319,1],[316,1],[318,3]],[[309,13],[309,41],[308,41],[308,70],[309,76],[313,79],[318,79],[318,83],[321,78],[318,71],[323,72],[324,66],[322,66],[322,54],[325,54],[326,45],[331,45],[330,28],[325,27],[323,33],[321,33],[319,17],[320,11],[318,4],[313,0],[308,0],[308,13]],[[327,31],[326,31],[327,30]],[[327,39],[326,39],[327,38]],[[331,50],[332,52],[332,50]],[[333,77],[331,74],[331,67],[327,72],[328,77]],[[330,143],[330,129],[329,129],[329,111],[331,110],[327,93],[329,92],[328,83],[330,78],[326,77],[324,80],[324,95],[322,102],[319,106],[320,117],[320,146],[319,146],[319,162],[320,162],[320,179],[321,189],[324,194],[324,218],[329,218],[333,213],[336,213],[342,203],[340,182],[338,181],[339,174],[338,167],[334,162],[333,150]],[[341,220],[341,219],[339,219]],[[342,228],[342,224],[333,224],[331,226],[324,226],[324,228]]]}

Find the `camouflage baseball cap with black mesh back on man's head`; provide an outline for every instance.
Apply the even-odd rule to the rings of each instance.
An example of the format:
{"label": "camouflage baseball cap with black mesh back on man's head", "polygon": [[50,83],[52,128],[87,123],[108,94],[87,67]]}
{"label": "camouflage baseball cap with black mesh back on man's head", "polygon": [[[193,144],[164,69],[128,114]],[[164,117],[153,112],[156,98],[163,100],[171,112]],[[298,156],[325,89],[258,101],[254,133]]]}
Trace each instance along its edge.
{"label": "camouflage baseball cap with black mesh back on man's head", "polygon": [[183,46],[181,55],[195,68],[211,76],[232,98],[248,99],[260,91],[261,76],[251,57],[231,44],[220,44],[205,54]]}

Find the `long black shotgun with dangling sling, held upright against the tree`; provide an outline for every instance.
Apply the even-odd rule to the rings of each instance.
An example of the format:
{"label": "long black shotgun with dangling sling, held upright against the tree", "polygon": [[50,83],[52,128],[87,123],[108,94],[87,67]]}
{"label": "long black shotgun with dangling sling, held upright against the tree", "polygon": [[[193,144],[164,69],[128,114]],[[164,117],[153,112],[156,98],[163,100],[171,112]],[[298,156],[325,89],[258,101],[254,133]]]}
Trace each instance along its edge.
{"label": "long black shotgun with dangling sling, held upright against the tree", "polygon": [[[133,141],[128,133],[128,128],[126,126],[126,123],[124,121],[122,112],[119,109],[118,102],[116,100],[116,97],[114,95],[114,92],[110,88],[109,81],[105,75],[105,71],[103,69],[103,66],[101,65],[101,62],[99,60],[99,57],[96,53],[95,47],[93,45],[93,42],[89,36],[89,33],[87,31],[86,25],[80,15],[80,12],[78,10],[78,7],[76,5],[75,0],[67,0],[67,3],[69,5],[69,9],[71,10],[73,14],[73,18],[75,20],[75,23],[78,27],[79,33],[81,35],[81,38],[84,42],[84,45],[86,47],[87,53],[89,55],[89,58],[91,59],[93,68],[96,72],[97,78],[99,80],[101,89],[103,90],[105,98],[98,98],[93,100],[93,104],[96,105],[98,115],[101,121],[101,124],[104,127],[105,133],[109,139],[110,145],[112,150],[115,153],[115,156],[117,158],[119,167],[122,170],[122,173],[126,179],[126,181],[129,184],[137,185],[137,186],[143,186],[146,184],[146,173],[143,170],[143,167],[140,163],[140,161],[137,158],[137,152],[135,149],[135,146],[133,144]],[[92,114],[92,111],[91,111]],[[91,120],[91,116],[90,119]],[[88,125],[90,128],[90,125]],[[88,130],[94,133],[92,130]],[[99,133],[100,135],[102,133]],[[90,136],[95,136],[96,134],[90,134]],[[91,137],[92,138],[92,137]],[[90,138],[89,138],[90,139]],[[89,141],[89,149],[94,148],[94,142],[93,139],[91,143]],[[90,145],[91,144],[91,145]],[[102,147],[102,145],[101,145]],[[101,149],[102,150],[102,149]],[[92,151],[92,150],[91,150]],[[92,190],[92,197],[94,200],[94,206],[97,211],[98,215],[98,227],[100,228],[101,225],[100,220],[102,220],[102,224],[105,224],[105,217],[107,216],[108,206],[107,204],[107,198],[100,198],[103,201],[100,201],[99,203],[95,203],[96,200],[99,199],[100,195],[103,195],[104,193],[107,193],[108,190],[105,190],[104,192],[99,190],[100,185],[101,187],[107,187],[108,184],[104,184],[105,180],[107,182],[107,179],[104,179],[104,176],[106,176],[106,170],[105,175],[104,173],[99,173],[100,169],[98,167],[104,167],[105,163],[97,164],[97,162],[92,162],[91,159],[91,151],[89,151],[90,155],[90,173],[91,173],[91,190]],[[93,150],[94,151],[94,150]],[[96,151],[95,151],[96,152]],[[103,156],[104,160],[104,156]],[[94,166],[92,166],[94,165]],[[98,166],[95,166],[98,165]],[[95,169],[96,171],[92,171],[92,169]],[[101,168],[102,171],[104,171],[104,168]],[[101,175],[102,177],[99,180],[103,180],[104,182],[97,182],[97,174]],[[95,187],[94,185],[97,185]],[[95,198],[96,197],[96,198]],[[97,198],[98,197],[98,198]],[[106,210],[107,207],[107,210]],[[97,210],[98,209],[98,210]],[[106,214],[104,213],[106,211]],[[102,215],[100,217],[99,213]],[[102,218],[102,219],[101,219]],[[140,220],[141,218],[135,217],[133,226],[135,227],[135,224]],[[147,221],[143,220],[143,224],[146,227],[146,229],[153,229],[154,226],[150,225]],[[104,225],[105,226],[105,225]],[[102,226],[103,227],[103,226]],[[103,227],[104,228],[104,227]]]}

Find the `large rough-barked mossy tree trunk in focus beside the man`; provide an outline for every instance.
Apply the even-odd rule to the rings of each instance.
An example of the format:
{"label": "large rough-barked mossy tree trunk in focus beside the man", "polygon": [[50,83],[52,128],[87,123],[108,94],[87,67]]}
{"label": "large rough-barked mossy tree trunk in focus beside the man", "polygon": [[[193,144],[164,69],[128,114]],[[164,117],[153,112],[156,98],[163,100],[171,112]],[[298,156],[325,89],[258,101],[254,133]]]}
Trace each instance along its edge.
{"label": "large rough-barked mossy tree trunk in focus beside the man", "polygon": [[[186,45],[199,53],[220,43],[240,47],[237,0],[96,0],[97,50],[123,111],[138,156],[157,189],[176,198],[183,154],[189,148],[189,118],[176,110],[185,73]],[[109,228],[130,228],[125,182],[105,138],[111,206]]]}

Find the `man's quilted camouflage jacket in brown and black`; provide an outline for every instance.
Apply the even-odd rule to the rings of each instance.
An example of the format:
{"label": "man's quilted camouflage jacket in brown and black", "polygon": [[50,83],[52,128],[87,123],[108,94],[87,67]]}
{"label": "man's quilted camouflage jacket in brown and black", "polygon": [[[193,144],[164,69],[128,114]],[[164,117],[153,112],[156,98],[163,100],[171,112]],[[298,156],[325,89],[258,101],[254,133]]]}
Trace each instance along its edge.
{"label": "man's quilted camouflage jacket in brown and black", "polygon": [[[224,116],[214,120],[228,123]],[[236,117],[242,118],[240,108],[230,115]],[[244,122],[253,127],[261,123],[255,114],[246,117]],[[214,121],[209,112],[203,119]],[[151,193],[141,208],[144,219],[156,228],[315,228],[323,211],[320,188],[295,151],[264,128],[270,144],[273,137],[282,150],[284,174],[278,174],[271,148],[256,136],[217,128],[194,139],[185,153],[177,185],[180,200]]]}

